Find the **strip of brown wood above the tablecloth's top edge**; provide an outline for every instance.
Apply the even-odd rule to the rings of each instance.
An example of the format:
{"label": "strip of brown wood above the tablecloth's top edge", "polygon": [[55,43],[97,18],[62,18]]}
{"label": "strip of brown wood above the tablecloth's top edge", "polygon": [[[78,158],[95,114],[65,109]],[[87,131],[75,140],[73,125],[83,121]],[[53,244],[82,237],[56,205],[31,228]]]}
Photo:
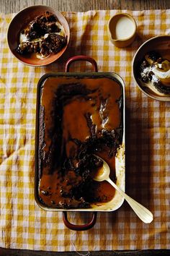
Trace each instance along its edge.
{"label": "strip of brown wood above the tablecloth's top edge", "polygon": [[59,12],[86,12],[91,9],[170,9],[169,0],[0,0],[0,12],[19,12],[21,9],[35,4],[46,4]]}

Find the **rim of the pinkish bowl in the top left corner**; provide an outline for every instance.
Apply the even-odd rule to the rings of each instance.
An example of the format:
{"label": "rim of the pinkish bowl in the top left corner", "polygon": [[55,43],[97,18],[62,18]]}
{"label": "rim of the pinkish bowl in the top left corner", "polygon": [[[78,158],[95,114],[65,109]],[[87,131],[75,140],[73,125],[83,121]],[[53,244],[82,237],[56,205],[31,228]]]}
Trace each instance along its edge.
{"label": "rim of the pinkish bowl in the top left corner", "polygon": [[[57,61],[57,60],[64,54],[64,52],[66,51],[66,48],[68,48],[68,43],[69,43],[69,41],[70,41],[70,27],[69,27],[69,25],[68,25],[68,21],[66,20],[66,26],[67,26],[67,29],[68,29],[68,35],[66,35],[66,37],[67,37],[67,44],[66,44],[66,46],[65,46],[65,48],[64,48],[64,50],[63,50],[63,53],[62,53],[60,56],[58,56],[57,59],[53,59],[53,60],[51,60],[51,61],[47,61],[45,64],[30,64],[30,63],[27,63],[27,62],[23,61],[22,59],[19,59],[19,58],[14,54],[14,52],[13,52],[11,46],[10,46],[10,43],[9,43],[9,41],[10,41],[10,40],[9,40],[9,30],[10,30],[10,28],[11,28],[11,26],[12,26],[12,22],[14,22],[14,20],[16,20],[17,17],[18,17],[20,14],[22,14],[22,12],[27,11],[27,10],[29,10],[29,9],[37,9],[38,7],[46,7],[46,8],[53,9],[53,12],[56,13],[56,16],[57,16],[57,17],[58,17],[58,14],[59,14],[59,15],[63,18],[63,20],[66,20],[66,17],[63,16],[62,12],[59,12],[57,9],[55,9],[55,8],[53,8],[53,7],[50,7],[50,6],[46,5],[46,4],[31,5],[31,6],[29,6],[29,7],[26,7],[26,8],[21,9],[19,12],[17,12],[17,14],[14,15],[14,17],[12,18],[12,20],[9,22],[9,25],[8,25],[8,28],[7,28],[7,33],[6,33],[6,38],[7,38],[7,43],[8,43],[8,46],[9,46],[9,50],[11,51],[12,55],[13,55],[15,58],[17,58],[18,61],[20,61],[22,64],[25,64],[25,65],[30,66],[30,67],[44,67],[44,66],[46,66],[46,65],[48,65],[48,64],[52,64],[54,61]],[[48,11],[48,10],[47,10],[47,11]],[[61,50],[61,51],[62,51],[62,50]],[[59,54],[59,53],[60,53],[60,52],[58,52],[58,54]],[[47,58],[47,59],[48,59],[48,58]]]}

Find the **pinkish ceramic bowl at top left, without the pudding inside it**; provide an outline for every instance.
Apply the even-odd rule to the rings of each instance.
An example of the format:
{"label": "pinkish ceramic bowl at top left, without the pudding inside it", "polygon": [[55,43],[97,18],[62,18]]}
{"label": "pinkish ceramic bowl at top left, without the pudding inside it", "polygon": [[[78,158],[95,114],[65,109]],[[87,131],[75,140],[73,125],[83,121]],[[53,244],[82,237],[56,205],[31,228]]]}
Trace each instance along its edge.
{"label": "pinkish ceramic bowl at top left, without the pudding inside it", "polygon": [[[61,23],[61,25],[63,25],[67,37],[66,46],[62,48],[62,50],[59,51],[57,54],[50,54],[50,56],[46,57],[45,59],[37,59],[37,57],[33,56],[33,54],[32,56],[18,54],[16,49],[17,46],[19,45],[19,34],[24,29],[24,27],[26,27],[29,24],[29,22],[34,20],[35,17],[37,17],[38,15],[44,14],[45,12],[55,14],[55,16],[58,18],[58,21]],[[13,18],[12,22],[10,22],[9,29],[7,32],[7,40],[9,48],[12,51],[12,54],[14,54],[14,56],[19,61],[30,66],[45,66],[47,64],[52,63],[53,61],[56,61],[64,53],[64,51],[66,51],[69,39],[70,30],[66,18],[63,17],[63,14],[61,14],[61,12],[58,12],[57,10],[51,7],[47,7],[45,5],[35,5],[23,9]]]}

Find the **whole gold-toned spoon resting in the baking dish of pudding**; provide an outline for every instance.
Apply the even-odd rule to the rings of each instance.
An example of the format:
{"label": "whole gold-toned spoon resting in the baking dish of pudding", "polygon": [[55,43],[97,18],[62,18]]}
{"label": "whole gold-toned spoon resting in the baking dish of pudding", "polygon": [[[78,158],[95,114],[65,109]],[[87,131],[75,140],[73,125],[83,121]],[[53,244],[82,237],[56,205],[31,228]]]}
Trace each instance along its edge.
{"label": "whole gold-toned spoon resting in the baking dish of pudding", "polygon": [[98,155],[95,156],[103,161],[103,166],[99,168],[99,170],[93,175],[93,179],[97,182],[109,182],[109,184],[115,187],[115,189],[120,192],[120,195],[125,198],[125,200],[131,206],[131,208],[133,208],[134,212],[140,218],[140,220],[142,220],[144,223],[151,223],[151,221],[153,221],[153,214],[150,212],[150,210],[146,209],[143,205],[140,205],[139,202],[136,202],[133,198],[126,195],[125,192],[122,191],[122,189],[117,187],[117,185],[112,182],[111,179],[109,179],[110,170],[107,162],[100,158]]}

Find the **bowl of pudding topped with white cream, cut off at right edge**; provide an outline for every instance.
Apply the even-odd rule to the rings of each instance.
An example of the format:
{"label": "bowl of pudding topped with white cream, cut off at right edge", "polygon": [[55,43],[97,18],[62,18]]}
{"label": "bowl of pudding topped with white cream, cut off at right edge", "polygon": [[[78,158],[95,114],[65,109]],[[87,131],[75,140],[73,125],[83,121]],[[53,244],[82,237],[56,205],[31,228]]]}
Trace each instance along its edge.
{"label": "bowl of pudding topped with white cream, cut off at right edge", "polygon": [[132,69],[143,93],[158,101],[170,101],[170,35],[143,43],[133,58]]}

